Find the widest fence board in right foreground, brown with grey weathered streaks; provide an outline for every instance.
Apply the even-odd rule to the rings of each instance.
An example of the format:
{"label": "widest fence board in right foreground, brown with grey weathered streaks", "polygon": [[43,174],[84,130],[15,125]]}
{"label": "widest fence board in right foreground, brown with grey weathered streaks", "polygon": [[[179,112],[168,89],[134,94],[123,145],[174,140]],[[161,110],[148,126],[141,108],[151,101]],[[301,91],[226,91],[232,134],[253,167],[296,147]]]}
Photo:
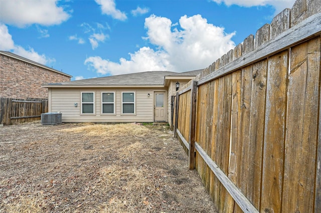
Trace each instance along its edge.
{"label": "widest fence board in right foreground, brown with grey weathered streaks", "polygon": [[313,211],[320,47],[317,37],[291,48],[282,198],[285,212]]}

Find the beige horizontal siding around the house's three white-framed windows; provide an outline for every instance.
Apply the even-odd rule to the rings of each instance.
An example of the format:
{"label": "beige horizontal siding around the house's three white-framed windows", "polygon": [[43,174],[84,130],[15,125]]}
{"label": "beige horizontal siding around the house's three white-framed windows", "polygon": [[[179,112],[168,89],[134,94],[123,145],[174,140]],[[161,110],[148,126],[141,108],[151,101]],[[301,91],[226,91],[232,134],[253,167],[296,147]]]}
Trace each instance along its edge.
{"label": "beige horizontal siding around the house's three white-framed windows", "polygon": [[[152,122],[156,88],[51,88],[51,111],[62,112],[63,122]],[[95,92],[95,114],[81,114],[81,92]],[[101,92],[115,92],[115,114],[101,113]],[[135,92],[135,114],[121,113],[121,92]],[[150,96],[147,96],[147,93]],[[77,107],[75,103],[77,102]]]}

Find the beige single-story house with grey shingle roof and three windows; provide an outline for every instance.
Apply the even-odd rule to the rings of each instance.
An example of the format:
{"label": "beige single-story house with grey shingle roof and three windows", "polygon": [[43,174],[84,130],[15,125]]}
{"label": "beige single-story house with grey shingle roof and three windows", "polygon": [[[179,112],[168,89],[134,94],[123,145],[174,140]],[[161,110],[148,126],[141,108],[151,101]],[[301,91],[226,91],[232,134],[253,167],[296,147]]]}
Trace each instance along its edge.
{"label": "beige single-story house with grey shingle roof and three windows", "polygon": [[63,122],[171,123],[172,96],[202,71],[145,71],[83,80],[47,83],[49,111]]}

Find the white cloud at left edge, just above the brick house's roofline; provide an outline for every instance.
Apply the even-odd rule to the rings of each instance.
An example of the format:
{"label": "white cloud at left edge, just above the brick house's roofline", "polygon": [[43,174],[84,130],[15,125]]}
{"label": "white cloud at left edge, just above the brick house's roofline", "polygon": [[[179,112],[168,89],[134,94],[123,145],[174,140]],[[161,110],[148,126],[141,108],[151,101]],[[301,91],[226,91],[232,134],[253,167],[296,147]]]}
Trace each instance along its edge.
{"label": "white cloud at left edge, just above the brick house's roofline", "polygon": [[54,62],[54,58],[48,58],[44,54],[39,54],[33,48],[28,50],[22,46],[16,45],[9,33],[8,27],[5,24],[0,23],[0,40],[6,40],[6,42],[0,42],[0,49],[4,51],[12,51],[15,54],[26,57],[30,60],[34,60],[41,64],[48,64]]}

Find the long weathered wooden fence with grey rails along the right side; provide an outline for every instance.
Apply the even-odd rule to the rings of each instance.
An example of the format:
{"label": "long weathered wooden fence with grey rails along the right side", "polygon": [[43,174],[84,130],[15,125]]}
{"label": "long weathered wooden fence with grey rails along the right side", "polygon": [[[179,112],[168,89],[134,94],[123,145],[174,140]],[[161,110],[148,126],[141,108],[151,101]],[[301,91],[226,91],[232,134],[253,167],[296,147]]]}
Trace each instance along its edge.
{"label": "long weathered wooden fence with grey rails along the right side", "polygon": [[321,0],[297,0],[177,92],[219,212],[321,212]]}

